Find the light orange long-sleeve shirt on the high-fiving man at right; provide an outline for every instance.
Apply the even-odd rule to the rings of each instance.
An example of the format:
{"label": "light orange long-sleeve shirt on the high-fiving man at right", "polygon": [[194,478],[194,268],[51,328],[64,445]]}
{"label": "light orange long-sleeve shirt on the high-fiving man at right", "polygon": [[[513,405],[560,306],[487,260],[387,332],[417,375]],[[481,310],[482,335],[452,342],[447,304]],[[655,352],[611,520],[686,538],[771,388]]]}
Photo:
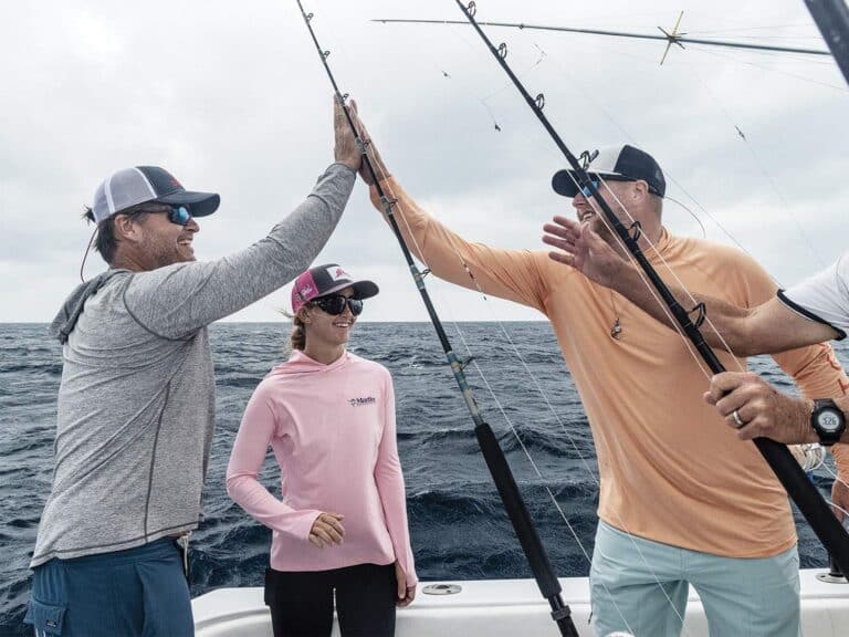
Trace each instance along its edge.
{"label": "light orange long-sleeve shirt on the high-fiving man at right", "polygon": [[[640,537],[734,557],[775,555],[796,542],[786,492],[756,447],[737,440],[704,403],[708,380],[679,334],[545,251],[465,241],[395,178],[381,185],[397,201],[410,249],[433,274],[473,289],[465,263],[484,293],[535,307],[552,322],[593,430],[599,518]],[[371,199],[381,209],[374,187]],[[657,247],[688,289],[741,306],[775,295],[768,275],[737,250],[665,230]],[[660,259],[649,260],[664,275]],[[617,317],[622,333],[614,340]],[[738,368],[730,354],[717,356]],[[839,396],[849,385],[828,345],[774,358],[807,396]]]}

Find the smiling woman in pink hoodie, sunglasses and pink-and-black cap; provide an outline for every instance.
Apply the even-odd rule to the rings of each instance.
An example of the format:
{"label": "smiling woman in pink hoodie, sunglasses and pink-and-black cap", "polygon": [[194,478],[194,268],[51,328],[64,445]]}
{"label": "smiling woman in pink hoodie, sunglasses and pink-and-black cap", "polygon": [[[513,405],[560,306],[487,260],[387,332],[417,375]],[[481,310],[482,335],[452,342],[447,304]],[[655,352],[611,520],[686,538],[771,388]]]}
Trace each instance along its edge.
{"label": "smiling woman in pink hoodie, sunglasses and pink-and-black cap", "polygon": [[[275,636],[329,635],[334,593],[344,636],[392,635],[396,605],[416,596],[392,379],[345,351],[377,292],[336,264],[297,278],[292,355],[256,387],[230,456],[227,492],[273,531]],[[269,446],[282,500],[256,480]]]}

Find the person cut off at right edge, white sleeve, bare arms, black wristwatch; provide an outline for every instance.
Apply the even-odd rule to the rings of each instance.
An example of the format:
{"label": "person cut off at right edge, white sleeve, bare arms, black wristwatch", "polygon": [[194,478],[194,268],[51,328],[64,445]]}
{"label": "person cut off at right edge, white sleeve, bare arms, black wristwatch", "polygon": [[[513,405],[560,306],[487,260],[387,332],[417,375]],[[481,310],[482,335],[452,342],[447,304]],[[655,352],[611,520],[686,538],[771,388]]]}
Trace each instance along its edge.
{"label": "person cut off at right edge, white sleeve, bare arms, black wristwatch", "polygon": [[[674,327],[665,306],[646,285],[621,249],[614,248],[594,222],[555,217],[546,223],[543,241],[558,248],[549,257],[573,267],[594,282],[626,296],[658,321]],[[602,232],[606,230],[602,230]],[[737,356],[784,352],[793,347],[846,338],[849,330],[849,253],[789,290],[778,290],[761,305],[741,307],[700,292],[669,284],[683,305],[704,304],[702,327],[712,347]],[[835,365],[838,363],[835,361]],[[741,440],[766,437],[786,445],[820,442],[831,449],[840,478],[831,488],[838,519],[849,510],[849,385],[836,400],[787,396],[752,373],[724,372],[711,379],[705,399],[715,405]]]}

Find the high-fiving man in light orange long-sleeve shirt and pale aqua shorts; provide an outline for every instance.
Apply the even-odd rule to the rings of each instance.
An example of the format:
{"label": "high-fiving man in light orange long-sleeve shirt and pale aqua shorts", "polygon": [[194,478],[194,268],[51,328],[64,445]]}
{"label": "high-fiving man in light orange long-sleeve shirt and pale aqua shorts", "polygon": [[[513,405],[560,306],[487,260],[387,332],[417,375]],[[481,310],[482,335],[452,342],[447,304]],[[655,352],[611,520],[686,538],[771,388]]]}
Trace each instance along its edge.
{"label": "high-fiving man in light orange long-sleeve shirt and pale aqua shorts", "polygon": [[[712,635],[796,637],[798,555],[787,494],[756,448],[741,445],[702,401],[706,374],[684,341],[545,251],[500,250],[451,232],[389,176],[373,144],[370,152],[399,228],[431,272],[535,307],[552,322],[598,457],[600,522],[590,571],[596,634],[679,635],[693,584]],[[604,175],[614,210],[625,219],[627,208],[640,221],[642,243],[657,248],[649,260],[662,257],[688,288],[746,306],[775,293],[745,254],[663,228],[665,184],[647,153],[608,149],[589,170]],[[574,197],[580,220],[593,218],[567,173],[555,176],[554,186]],[[381,209],[374,185],[371,199]],[[829,397],[847,382],[830,354],[816,346],[775,359],[806,395]],[[745,366],[727,353],[719,357],[729,368]]]}

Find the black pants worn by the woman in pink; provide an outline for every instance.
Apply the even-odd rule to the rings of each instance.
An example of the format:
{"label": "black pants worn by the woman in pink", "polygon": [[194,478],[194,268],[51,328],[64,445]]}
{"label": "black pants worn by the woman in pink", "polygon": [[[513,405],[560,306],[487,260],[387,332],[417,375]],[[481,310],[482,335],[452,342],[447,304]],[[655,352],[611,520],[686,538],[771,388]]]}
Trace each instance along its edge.
{"label": "black pants worn by the woman in pink", "polygon": [[333,594],[345,637],[395,635],[395,565],[333,571],[265,571],[265,604],[274,637],[329,637]]}

